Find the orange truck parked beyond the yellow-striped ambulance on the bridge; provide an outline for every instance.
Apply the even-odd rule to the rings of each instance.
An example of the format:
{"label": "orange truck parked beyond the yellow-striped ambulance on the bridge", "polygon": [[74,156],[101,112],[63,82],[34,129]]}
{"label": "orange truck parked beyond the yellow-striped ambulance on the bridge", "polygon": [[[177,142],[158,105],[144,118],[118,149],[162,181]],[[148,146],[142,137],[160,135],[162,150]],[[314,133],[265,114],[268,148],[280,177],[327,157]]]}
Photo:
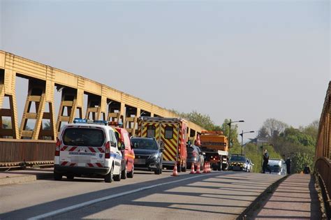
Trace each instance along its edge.
{"label": "orange truck parked beyond the yellow-striped ambulance on the bridge", "polygon": [[214,170],[228,170],[228,138],[222,131],[202,131],[200,145]]}

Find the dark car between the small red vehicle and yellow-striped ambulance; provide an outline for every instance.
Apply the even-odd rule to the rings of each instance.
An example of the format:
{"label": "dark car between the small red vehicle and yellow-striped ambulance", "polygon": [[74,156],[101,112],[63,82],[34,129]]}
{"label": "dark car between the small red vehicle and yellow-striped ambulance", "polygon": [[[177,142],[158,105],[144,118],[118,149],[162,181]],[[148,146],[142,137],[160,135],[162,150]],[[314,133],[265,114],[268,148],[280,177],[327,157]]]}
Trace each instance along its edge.
{"label": "dark car between the small red vehicle and yellow-striped ambulance", "polygon": [[163,169],[163,148],[155,138],[131,138],[135,152],[135,169],[152,170],[159,175]]}

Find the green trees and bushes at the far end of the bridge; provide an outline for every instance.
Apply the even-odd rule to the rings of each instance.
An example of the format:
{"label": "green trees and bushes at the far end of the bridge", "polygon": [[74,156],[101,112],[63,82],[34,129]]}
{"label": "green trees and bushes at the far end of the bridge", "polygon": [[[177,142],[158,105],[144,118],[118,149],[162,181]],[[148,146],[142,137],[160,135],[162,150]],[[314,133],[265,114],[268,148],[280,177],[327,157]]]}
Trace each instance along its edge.
{"label": "green trees and bushes at the far end of the bridge", "polygon": [[[223,131],[228,136],[230,119],[225,119],[221,126],[214,124],[209,115],[204,115],[196,111],[190,113],[175,112],[179,117],[183,117],[191,122],[194,122],[209,131]],[[284,159],[288,157],[292,160],[291,172],[300,173],[304,166],[308,165],[311,170],[314,166],[315,145],[318,133],[318,121],[314,121],[308,126],[300,126],[298,129],[288,126],[288,124],[281,122],[277,119],[266,119],[263,122],[256,138],[263,138],[273,146],[267,146],[270,158]],[[237,140],[238,126],[232,124],[231,126],[231,139],[232,147],[230,147],[231,154],[240,154],[241,145]],[[253,172],[259,173],[261,170],[262,151],[260,146],[248,143],[243,147],[243,153],[251,159]]]}

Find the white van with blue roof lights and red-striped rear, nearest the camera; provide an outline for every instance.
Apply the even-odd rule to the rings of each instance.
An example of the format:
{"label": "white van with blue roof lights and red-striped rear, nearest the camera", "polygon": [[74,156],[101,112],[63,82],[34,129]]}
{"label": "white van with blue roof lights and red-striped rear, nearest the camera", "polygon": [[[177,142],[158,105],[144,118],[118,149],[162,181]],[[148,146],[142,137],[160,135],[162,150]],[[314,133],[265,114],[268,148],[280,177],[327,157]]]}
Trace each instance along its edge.
{"label": "white van with blue roof lights and red-striped rear, nearest the camera", "polygon": [[121,180],[122,154],[115,131],[106,121],[75,119],[59,132],[54,156],[54,179],[62,176],[103,177],[105,182]]}

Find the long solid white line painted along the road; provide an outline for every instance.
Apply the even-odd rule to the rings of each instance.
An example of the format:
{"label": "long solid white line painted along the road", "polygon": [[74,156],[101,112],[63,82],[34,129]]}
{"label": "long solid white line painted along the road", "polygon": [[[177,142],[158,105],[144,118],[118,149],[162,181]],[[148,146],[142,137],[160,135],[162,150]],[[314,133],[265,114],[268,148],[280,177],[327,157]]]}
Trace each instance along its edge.
{"label": "long solid white line painted along the road", "polygon": [[100,202],[103,202],[105,200],[109,200],[111,198],[117,198],[119,196],[126,196],[126,195],[131,194],[131,193],[136,193],[136,192],[139,192],[139,191],[152,189],[152,188],[155,188],[155,187],[158,187],[158,186],[164,186],[164,185],[173,184],[173,183],[176,183],[176,182],[182,182],[182,181],[185,181],[185,180],[188,180],[188,179],[194,179],[194,178],[209,176],[209,175],[213,175],[213,174],[216,174],[216,173],[209,173],[207,175],[206,174],[205,175],[195,175],[193,177],[188,177],[188,178],[185,178],[185,179],[178,179],[178,180],[175,180],[175,181],[172,181],[172,182],[164,182],[164,183],[155,184],[155,185],[152,185],[152,186],[145,186],[145,187],[142,187],[142,188],[139,188],[139,189],[133,189],[131,191],[126,191],[126,192],[123,192],[123,193],[117,193],[117,194],[114,194],[114,195],[111,195],[111,196],[96,198],[94,200],[89,200],[88,202],[85,202],[85,203],[79,203],[79,204],[76,204],[76,205],[71,205],[69,207],[65,207],[65,208],[60,209],[60,210],[55,210],[53,212],[47,212],[45,214],[40,214],[40,215],[37,215],[36,217],[31,217],[28,220],[35,220],[35,219],[43,219],[43,218],[47,218],[47,217],[52,217],[54,215],[62,214],[64,212],[71,212],[73,210],[77,210],[77,209],[80,209],[82,207],[92,205],[94,203],[100,203]]}

